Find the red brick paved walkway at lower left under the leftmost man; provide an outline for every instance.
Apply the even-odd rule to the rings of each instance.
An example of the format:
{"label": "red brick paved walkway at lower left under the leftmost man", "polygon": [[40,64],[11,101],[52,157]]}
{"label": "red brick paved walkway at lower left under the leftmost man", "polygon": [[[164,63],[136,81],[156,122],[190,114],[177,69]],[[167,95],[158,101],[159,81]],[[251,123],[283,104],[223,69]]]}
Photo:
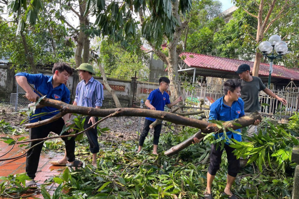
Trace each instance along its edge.
{"label": "red brick paved walkway at lower left under the leftmost man", "polygon": [[[3,143],[0,141],[0,149],[1,149],[0,156],[5,154],[7,151],[9,151],[11,147],[12,146],[8,146],[7,143]],[[23,148],[25,148],[25,146]],[[14,149],[12,149],[9,153],[1,157],[0,159],[17,157],[22,154],[24,154],[24,151],[16,144],[14,146]],[[64,166],[53,166],[51,163],[49,163],[49,161],[51,160],[60,160],[62,157],[63,156],[61,154],[55,154],[54,158],[51,158],[51,155],[48,154],[41,155],[39,159],[39,166],[36,173],[36,177],[34,179],[36,180],[38,186],[44,183],[44,181],[47,180],[48,178],[57,175],[63,171],[63,168],[65,168]],[[0,176],[8,176],[9,174],[24,173],[25,166],[26,166],[26,157],[22,157],[16,160],[0,161]],[[55,186],[56,185],[52,184],[49,185],[48,188],[55,189]],[[53,191],[49,191],[49,193],[52,195]],[[38,195],[34,195],[33,197],[30,197],[29,199],[33,199],[33,198],[43,198],[43,197],[41,194],[38,194]],[[0,199],[4,199],[4,198],[0,198]]]}

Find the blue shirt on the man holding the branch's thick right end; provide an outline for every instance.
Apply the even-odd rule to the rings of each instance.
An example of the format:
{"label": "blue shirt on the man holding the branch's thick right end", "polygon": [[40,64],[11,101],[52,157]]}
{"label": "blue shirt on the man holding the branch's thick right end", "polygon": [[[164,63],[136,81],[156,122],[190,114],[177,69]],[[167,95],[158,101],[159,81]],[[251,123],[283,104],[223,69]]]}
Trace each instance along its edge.
{"label": "blue shirt on the man holding the branch's thick right end", "polygon": [[[231,107],[223,103],[223,98],[224,96],[216,100],[211,105],[209,120],[221,120],[226,122],[237,119],[244,115],[244,102],[241,98],[239,98],[238,101],[234,101]],[[241,132],[240,129],[237,129],[236,131]],[[231,131],[226,132],[226,134],[230,139],[233,136],[233,138],[238,142],[241,142],[242,140],[242,137],[239,134],[233,133]],[[218,134],[219,137],[222,137],[222,135],[223,133]],[[224,139],[224,137],[222,139]]]}

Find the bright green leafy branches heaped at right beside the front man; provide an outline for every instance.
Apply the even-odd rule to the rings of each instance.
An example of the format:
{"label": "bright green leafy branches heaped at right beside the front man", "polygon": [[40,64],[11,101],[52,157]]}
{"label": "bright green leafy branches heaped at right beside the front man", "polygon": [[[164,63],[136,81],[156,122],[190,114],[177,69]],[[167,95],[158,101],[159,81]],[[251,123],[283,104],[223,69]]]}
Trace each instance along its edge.
{"label": "bright green leafy branches heaped at right beside the front man", "polygon": [[[292,119],[290,123],[293,123]],[[274,125],[266,119],[259,133],[248,138],[250,142],[234,140],[235,144],[230,146],[236,148],[237,157],[250,156],[248,164],[255,161],[260,172],[263,171],[263,165],[266,169],[272,169],[275,165],[284,172],[291,163],[293,146],[299,145],[299,140],[289,128],[283,124]]]}

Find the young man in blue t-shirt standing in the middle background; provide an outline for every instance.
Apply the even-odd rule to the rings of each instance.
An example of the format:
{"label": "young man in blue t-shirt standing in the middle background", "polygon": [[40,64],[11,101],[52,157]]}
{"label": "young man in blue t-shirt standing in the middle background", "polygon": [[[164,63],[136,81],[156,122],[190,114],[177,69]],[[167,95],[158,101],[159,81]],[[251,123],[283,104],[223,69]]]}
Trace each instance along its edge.
{"label": "young man in blue t-shirt standing in the middle background", "polygon": [[[165,92],[168,90],[169,83],[170,80],[167,77],[160,77],[159,88],[153,90],[149,94],[147,100],[145,101],[145,105],[148,108],[150,108],[151,110],[164,111],[165,105],[167,105],[168,108],[171,108],[177,103],[183,101],[183,98],[180,96],[176,101],[170,103],[169,95],[167,92]],[[141,151],[145,137],[147,137],[149,133],[149,125],[155,122],[155,120],[156,120],[155,118],[150,118],[150,117],[145,118],[143,131],[139,138],[139,147],[137,153]],[[162,124],[156,125],[154,127],[155,131],[154,131],[154,150],[152,152],[153,154],[157,154],[161,128],[162,128]]]}

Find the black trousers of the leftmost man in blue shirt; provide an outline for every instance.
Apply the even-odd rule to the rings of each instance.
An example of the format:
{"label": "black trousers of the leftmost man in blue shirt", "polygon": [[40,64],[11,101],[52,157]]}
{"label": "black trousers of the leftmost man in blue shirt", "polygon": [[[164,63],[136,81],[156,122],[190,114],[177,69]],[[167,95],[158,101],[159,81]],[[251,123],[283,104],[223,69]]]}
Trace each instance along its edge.
{"label": "black trousers of the leftmost man in blue shirt", "polygon": [[[39,139],[39,138],[45,138],[49,135],[49,133],[52,131],[58,135],[60,135],[62,128],[64,126],[64,121],[62,118],[51,122],[46,125],[42,125],[36,128],[31,128],[31,132],[29,134],[30,140],[33,139]],[[68,132],[63,133],[62,135],[68,135]],[[62,140],[65,142],[65,150],[66,150],[66,157],[69,162],[73,162],[75,160],[75,137],[71,137],[71,139],[68,140],[68,138],[62,138]],[[30,142],[30,147],[34,146],[35,144],[39,143],[40,141]],[[26,156],[26,173],[31,178],[35,178],[35,173],[38,168],[39,164],[39,157],[40,153],[42,152],[42,146],[44,142],[41,144],[33,147],[30,149]]]}

